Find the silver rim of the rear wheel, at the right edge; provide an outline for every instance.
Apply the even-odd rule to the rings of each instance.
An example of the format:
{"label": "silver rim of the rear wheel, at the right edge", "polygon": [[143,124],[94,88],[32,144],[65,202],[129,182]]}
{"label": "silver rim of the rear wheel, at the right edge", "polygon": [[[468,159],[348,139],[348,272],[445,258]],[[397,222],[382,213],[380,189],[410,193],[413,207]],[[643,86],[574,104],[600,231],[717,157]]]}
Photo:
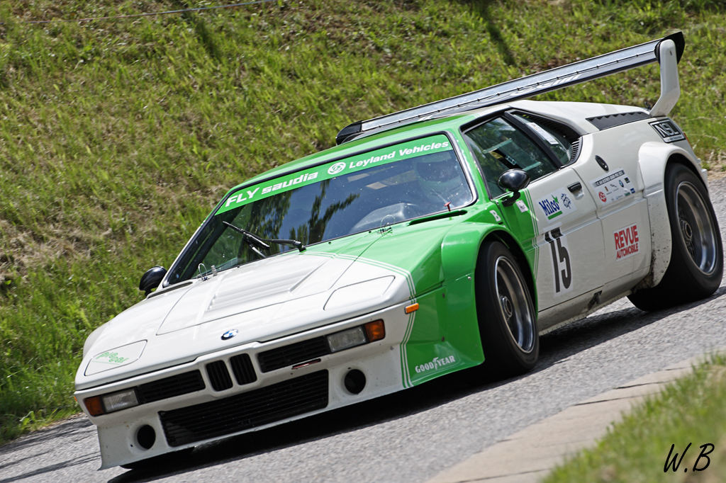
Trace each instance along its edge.
{"label": "silver rim of the rear wheel, at the right edge", "polygon": [[717,265],[717,242],[711,212],[696,186],[684,181],[678,185],[676,209],[680,234],[693,263],[709,275]]}

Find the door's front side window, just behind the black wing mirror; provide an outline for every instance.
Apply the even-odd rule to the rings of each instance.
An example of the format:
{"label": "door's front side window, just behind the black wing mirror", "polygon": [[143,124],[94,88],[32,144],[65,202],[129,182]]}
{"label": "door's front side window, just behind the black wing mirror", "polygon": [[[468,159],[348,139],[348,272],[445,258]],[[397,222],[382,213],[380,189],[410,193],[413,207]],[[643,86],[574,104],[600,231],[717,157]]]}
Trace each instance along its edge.
{"label": "door's front side window, just behind the black wing mirror", "polygon": [[466,131],[464,137],[493,198],[505,193],[497,180],[506,170],[525,170],[534,181],[558,169],[537,144],[501,117]]}

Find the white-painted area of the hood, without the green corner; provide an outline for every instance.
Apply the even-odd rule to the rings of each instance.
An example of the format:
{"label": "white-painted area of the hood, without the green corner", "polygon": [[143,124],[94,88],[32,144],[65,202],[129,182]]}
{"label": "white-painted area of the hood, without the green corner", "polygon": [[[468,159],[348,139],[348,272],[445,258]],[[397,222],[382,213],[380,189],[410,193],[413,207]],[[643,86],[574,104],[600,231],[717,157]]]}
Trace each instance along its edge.
{"label": "white-painted area of the hood, without the green corner", "polygon": [[[287,271],[290,265],[297,269],[297,276]],[[250,279],[259,284],[256,272],[263,268],[268,274],[264,285],[257,288],[245,285]],[[273,273],[276,281],[270,278]],[[356,290],[357,300],[326,307],[337,289],[385,277],[390,282],[382,293],[380,284],[362,284],[362,289]],[[245,286],[250,295],[241,292],[236,300],[229,300],[230,288]],[[371,288],[373,292],[369,293]],[[254,297],[260,292],[261,297]],[[231,346],[327,326],[391,307],[409,297],[411,293],[404,276],[368,263],[298,252],[259,260],[221,272],[206,281],[197,280],[181,289],[161,292],[118,315],[104,326],[93,346],[86,350],[76,374],[76,389],[89,389],[120,376],[128,378],[188,363],[200,355]],[[221,340],[221,335],[231,329],[237,329],[240,335],[229,341]],[[147,345],[139,360],[86,375],[91,359],[141,340],[147,341]]]}

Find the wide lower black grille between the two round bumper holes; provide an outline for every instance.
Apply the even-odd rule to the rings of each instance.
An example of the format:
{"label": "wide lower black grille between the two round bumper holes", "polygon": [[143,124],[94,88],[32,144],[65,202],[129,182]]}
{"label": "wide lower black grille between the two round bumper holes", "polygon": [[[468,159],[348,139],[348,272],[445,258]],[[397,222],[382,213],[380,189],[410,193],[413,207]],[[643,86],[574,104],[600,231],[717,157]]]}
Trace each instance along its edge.
{"label": "wide lower black grille between the two round bumper holes", "polygon": [[181,446],[327,407],[327,371],[317,371],[250,392],[159,411],[166,441]]}

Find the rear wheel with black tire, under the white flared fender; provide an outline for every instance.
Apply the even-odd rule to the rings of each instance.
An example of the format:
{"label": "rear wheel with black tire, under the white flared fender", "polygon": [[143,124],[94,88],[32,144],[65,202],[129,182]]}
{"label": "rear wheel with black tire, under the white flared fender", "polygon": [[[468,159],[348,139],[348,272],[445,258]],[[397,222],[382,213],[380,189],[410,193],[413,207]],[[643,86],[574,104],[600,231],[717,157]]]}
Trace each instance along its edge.
{"label": "rear wheel with black tire, under the white flared fender", "polygon": [[663,280],[628,298],[640,310],[662,310],[709,297],[724,271],[721,231],[706,186],[679,163],[666,167],[671,259]]}

